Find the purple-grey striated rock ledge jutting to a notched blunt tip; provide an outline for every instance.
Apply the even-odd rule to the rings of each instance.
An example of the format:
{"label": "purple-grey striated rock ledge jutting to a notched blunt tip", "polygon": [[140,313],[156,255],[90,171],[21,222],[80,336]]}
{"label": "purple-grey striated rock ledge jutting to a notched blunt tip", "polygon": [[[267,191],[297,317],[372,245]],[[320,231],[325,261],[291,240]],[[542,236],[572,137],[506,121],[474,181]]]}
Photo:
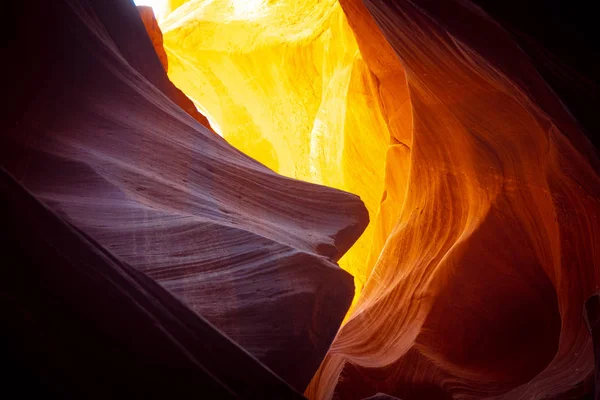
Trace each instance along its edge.
{"label": "purple-grey striated rock ledge jutting to a notched blunt tip", "polygon": [[352,299],[335,262],[360,199],[275,174],[178,107],[133,4],[33,3],[8,43],[2,166],[303,390]]}

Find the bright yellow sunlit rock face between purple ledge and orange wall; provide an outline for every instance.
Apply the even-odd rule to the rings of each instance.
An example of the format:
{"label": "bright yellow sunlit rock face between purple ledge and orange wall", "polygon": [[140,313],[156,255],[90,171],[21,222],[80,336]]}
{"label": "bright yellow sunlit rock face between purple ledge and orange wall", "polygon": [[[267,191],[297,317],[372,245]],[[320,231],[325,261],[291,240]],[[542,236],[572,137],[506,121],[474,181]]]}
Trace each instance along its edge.
{"label": "bright yellow sunlit rock face between purple ledge and orange wall", "polygon": [[[169,77],[213,128],[276,172],[358,194],[374,220],[390,133],[377,79],[339,3],[193,0],[168,8],[161,28]],[[372,236],[368,228],[340,261],[357,292]]]}

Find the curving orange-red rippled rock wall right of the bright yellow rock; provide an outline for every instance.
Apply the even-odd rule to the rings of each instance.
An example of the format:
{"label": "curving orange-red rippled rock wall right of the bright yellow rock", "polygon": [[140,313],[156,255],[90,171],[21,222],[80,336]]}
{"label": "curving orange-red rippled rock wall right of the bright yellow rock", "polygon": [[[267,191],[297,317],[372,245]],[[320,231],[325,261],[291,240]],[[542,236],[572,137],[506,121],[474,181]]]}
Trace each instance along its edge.
{"label": "curving orange-red rippled rock wall right of the bright yellow rock", "polygon": [[[582,304],[600,283],[594,149],[481,9],[342,4],[373,71],[406,71],[410,175],[374,278],[308,396],[583,396],[593,352]],[[369,48],[382,34],[395,67],[380,61],[387,46]],[[402,165],[393,153],[387,163]]]}

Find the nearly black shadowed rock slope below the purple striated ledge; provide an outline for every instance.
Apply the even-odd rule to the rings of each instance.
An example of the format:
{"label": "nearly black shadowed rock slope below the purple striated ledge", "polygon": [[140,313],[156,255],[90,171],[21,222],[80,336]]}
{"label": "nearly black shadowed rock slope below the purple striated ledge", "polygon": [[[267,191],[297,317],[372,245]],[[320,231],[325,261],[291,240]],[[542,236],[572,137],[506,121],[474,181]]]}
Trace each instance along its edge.
{"label": "nearly black shadowed rock slope below the purple striated ledge", "polygon": [[[3,390],[30,398],[303,399],[0,169]],[[232,368],[235,366],[235,368]]]}

